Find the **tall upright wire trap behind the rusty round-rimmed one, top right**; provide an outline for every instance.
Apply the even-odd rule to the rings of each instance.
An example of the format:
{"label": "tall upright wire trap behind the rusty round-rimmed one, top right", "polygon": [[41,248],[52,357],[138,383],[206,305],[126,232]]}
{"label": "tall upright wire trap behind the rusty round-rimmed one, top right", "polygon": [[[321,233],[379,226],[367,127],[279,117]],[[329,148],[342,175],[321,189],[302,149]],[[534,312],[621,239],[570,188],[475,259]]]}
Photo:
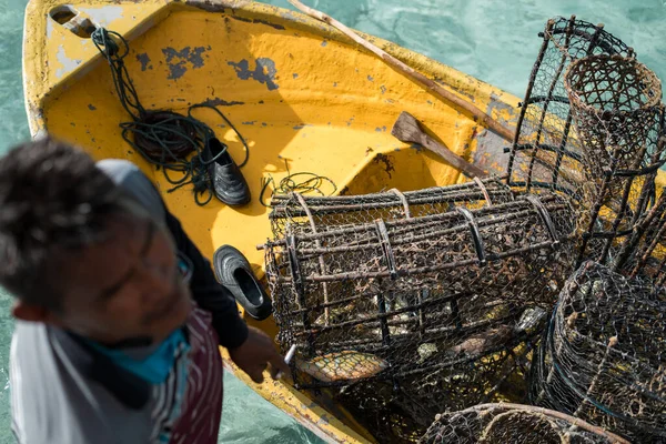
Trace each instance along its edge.
{"label": "tall upright wire trap behind the rusty round-rimmed one, top right", "polygon": [[569,64],[593,54],[633,57],[634,50],[603,24],[554,18],[543,32],[521,104],[516,135],[507,164],[507,183],[527,192],[556,190],[581,200],[585,182],[583,147],[574,131],[574,114],[564,85]]}

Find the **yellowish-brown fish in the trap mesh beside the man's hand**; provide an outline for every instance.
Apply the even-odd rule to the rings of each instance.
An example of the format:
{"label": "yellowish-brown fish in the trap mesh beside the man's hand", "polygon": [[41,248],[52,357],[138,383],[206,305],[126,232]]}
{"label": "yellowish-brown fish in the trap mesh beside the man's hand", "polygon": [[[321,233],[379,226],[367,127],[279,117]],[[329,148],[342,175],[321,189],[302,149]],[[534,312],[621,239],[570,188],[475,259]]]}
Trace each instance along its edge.
{"label": "yellowish-brown fish in the trap mesh beside the man's hand", "polygon": [[296,369],[321,382],[356,381],[372,377],[389,367],[383,359],[354,351],[342,351],[310,361],[296,359]]}

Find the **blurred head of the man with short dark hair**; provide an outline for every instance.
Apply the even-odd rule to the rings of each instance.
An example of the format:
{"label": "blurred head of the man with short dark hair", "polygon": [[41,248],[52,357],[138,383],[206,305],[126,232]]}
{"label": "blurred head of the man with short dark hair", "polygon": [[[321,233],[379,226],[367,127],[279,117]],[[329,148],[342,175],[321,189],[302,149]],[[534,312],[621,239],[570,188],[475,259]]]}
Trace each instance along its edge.
{"label": "blurred head of the man with short dark hair", "polygon": [[107,344],[161,341],[190,312],[163,221],[52,139],[0,158],[0,285],[16,317]]}

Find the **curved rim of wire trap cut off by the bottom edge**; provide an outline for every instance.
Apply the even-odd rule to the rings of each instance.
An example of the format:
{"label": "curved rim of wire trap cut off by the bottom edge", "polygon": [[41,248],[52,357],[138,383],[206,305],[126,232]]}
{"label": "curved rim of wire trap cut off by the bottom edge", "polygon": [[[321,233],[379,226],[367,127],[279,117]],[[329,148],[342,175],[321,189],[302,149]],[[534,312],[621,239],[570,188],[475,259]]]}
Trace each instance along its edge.
{"label": "curved rim of wire trap cut off by the bottom edge", "polygon": [[437,415],[421,444],[628,444],[579,418],[521,404],[482,404]]}

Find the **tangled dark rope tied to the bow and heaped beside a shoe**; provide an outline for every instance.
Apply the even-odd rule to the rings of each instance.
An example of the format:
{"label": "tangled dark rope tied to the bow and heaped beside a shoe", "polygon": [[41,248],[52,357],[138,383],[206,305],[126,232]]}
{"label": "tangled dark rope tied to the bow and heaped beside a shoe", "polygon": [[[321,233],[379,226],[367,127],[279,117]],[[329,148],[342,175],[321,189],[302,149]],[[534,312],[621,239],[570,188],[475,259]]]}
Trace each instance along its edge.
{"label": "tangled dark rope tied to the bow and heaped beside a shoe", "polygon": [[[91,37],[94,46],[111,67],[115,93],[123,109],[132,117],[131,122],[120,123],[124,141],[158,170],[162,169],[164,178],[173,185],[168,192],[192,184],[194,201],[199,205],[209,203],[214,192],[208,170],[210,164],[228,150],[228,147],[222,143],[222,151],[215,158],[206,160],[203,152],[209,141],[215,138],[215,133],[209,125],[195,119],[192,112],[202,108],[211,109],[235,132],[245,151],[245,158],[239,168],[244,167],[250,159],[250,148],[245,139],[219,109],[206,103],[191,105],[188,115],[144,109],[124,64],[124,58],[130,52],[127,40],[118,32],[104,28],[95,29]],[[188,159],[192,152],[194,155]],[[182,176],[172,179],[170,171]],[[201,200],[200,196],[204,193],[208,193],[208,196]]]}

